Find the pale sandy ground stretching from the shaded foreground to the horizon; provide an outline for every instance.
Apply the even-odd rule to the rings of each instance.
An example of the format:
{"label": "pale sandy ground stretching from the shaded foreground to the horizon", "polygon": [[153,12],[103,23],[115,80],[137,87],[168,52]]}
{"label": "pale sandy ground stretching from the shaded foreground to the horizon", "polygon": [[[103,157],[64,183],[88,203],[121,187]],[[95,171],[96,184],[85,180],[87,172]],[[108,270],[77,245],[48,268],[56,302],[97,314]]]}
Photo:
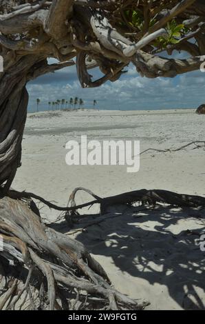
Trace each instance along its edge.
{"label": "pale sandy ground stretching from the shaded foreground to the horizon", "polygon": [[[205,195],[203,148],[179,152],[147,152],[140,158],[140,171],[127,173],[127,167],[67,166],[65,143],[79,140],[140,140],[140,150],[179,148],[191,141],[205,140],[205,116],[193,110],[40,112],[28,114],[23,139],[22,167],[13,187],[66,205],[78,186],[99,196],[130,190],[166,189]],[[193,148],[193,147],[192,147]],[[79,192],[77,203],[90,200]],[[204,210],[111,210],[99,224],[80,228],[94,221],[85,217],[76,224],[72,236],[82,241],[105,267],[112,283],[133,298],[151,302],[147,309],[205,309],[205,252],[196,244],[205,225]],[[41,210],[54,221],[58,212]],[[88,211],[85,211],[88,213]],[[89,210],[98,212],[98,207]],[[58,230],[58,228],[56,228]]]}

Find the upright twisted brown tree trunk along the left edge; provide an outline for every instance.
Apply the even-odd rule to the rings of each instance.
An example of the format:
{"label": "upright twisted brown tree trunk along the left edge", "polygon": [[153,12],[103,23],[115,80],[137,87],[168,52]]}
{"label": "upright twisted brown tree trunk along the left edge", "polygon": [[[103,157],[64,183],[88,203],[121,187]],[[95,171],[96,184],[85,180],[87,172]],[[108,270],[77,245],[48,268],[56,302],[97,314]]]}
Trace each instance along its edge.
{"label": "upright twisted brown tree trunk along the left edge", "polygon": [[[0,74],[0,185],[7,192],[21,165],[21,141],[25,126],[28,92],[25,88],[30,69],[36,58],[6,60]],[[6,64],[7,63],[7,64]]]}

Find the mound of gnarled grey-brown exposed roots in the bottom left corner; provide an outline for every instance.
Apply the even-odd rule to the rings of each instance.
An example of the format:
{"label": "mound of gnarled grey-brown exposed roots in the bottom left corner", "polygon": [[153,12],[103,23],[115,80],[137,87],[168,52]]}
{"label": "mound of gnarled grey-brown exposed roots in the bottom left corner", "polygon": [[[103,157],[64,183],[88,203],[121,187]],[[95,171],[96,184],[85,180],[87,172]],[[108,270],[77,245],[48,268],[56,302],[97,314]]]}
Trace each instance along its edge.
{"label": "mound of gnarled grey-brown exposed roots in the bottom left corner", "polygon": [[[32,296],[32,309],[63,309],[65,302],[67,307],[72,309],[73,298],[79,299],[78,307],[86,303],[88,309],[138,310],[146,305],[138,304],[111,287],[107,274],[85,250],[83,244],[46,227],[25,201],[4,197],[0,200],[0,210],[0,233],[3,236],[0,263],[3,257],[28,271],[23,287],[21,280],[18,283],[14,281],[10,290],[3,292],[0,297],[1,308],[14,309],[25,292],[28,292],[30,298]],[[9,274],[9,265],[6,267],[5,276],[12,277],[12,274]],[[41,285],[32,288],[32,294],[30,293],[34,267],[40,270],[41,281],[46,279],[43,292],[46,303],[41,301]],[[38,297],[34,301],[36,290]],[[63,290],[64,301],[58,290],[61,290],[61,294]],[[96,299],[92,301],[87,298],[85,302],[86,296],[95,296]]]}

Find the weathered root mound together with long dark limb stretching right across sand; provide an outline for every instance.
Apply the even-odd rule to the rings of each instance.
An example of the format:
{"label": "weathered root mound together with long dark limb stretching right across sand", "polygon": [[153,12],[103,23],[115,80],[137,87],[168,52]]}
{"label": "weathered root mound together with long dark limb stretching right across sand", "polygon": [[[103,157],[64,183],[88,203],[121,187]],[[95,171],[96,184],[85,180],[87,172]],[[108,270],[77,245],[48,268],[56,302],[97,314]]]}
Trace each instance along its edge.
{"label": "weathered root mound together with long dark limb stretching right across sand", "polygon": [[[202,196],[166,190],[136,190],[102,199],[90,190],[76,188],[69,198],[68,207],[56,206],[58,210],[66,210],[66,217],[73,219],[76,210],[82,207],[75,202],[79,190],[95,199],[84,206],[100,203],[102,213],[107,212],[111,205],[132,205],[136,202],[205,207]],[[1,290],[0,309],[19,309],[25,301],[30,309],[37,310],[76,310],[83,307],[92,310],[141,310],[147,305],[116,291],[105,270],[82,243],[43,224],[31,199],[34,194],[11,190],[8,195],[0,199],[0,234],[3,237],[0,269],[5,269],[0,282],[5,279],[10,286]],[[44,199],[40,200],[50,206]],[[19,272],[24,272],[24,279],[27,279],[19,278]]]}

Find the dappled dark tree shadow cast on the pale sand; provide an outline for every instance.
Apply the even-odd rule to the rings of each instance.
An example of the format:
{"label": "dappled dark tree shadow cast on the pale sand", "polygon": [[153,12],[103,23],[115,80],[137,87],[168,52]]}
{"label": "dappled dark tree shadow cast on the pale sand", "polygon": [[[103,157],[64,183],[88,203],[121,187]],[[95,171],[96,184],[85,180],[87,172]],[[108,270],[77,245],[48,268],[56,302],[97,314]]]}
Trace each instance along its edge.
{"label": "dappled dark tree shadow cast on the pale sand", "polygon": [[87,229],[76,232],[76,239],[150,287],[165,285],[185,310],[205,310],[205,252],[196,243],[204,232],[204,210],[163,206],[141,210],[85,216],[74,230]]}

